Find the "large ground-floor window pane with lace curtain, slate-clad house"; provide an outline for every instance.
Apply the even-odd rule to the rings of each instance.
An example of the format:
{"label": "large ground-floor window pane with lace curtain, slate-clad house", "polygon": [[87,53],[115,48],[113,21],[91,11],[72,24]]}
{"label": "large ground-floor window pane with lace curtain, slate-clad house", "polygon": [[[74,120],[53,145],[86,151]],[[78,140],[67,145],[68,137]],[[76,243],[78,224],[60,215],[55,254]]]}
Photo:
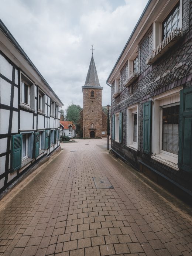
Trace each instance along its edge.
{"label": "large ground-floor window pane with lace curtain, slate-clad house", "polygon": [[178,155],[179,105],[163,109],[162,150]]}

